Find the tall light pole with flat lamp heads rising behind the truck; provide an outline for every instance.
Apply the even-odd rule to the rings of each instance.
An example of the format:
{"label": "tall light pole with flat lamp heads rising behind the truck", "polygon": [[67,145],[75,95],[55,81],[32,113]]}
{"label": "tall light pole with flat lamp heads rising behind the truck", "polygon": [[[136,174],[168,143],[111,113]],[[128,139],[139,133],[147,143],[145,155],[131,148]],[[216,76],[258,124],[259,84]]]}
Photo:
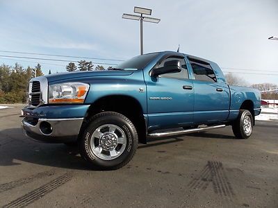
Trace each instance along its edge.
{"label": "tall light pole with flat lamp heads rising behind the truck", "polygon": [[122,18],[131,19],[131,20],[140,20],[140,55],[142,55],[143,54],[143,21],[148,21],[148,22],[158,24],[158,22],[161,21],[161,19],[143,16],[143,15],[152,15],[152,10],[148,8],[141,8],[135,6],[133,12],[138,13],[140,15],[130,15],[124,13],[122,15]]}

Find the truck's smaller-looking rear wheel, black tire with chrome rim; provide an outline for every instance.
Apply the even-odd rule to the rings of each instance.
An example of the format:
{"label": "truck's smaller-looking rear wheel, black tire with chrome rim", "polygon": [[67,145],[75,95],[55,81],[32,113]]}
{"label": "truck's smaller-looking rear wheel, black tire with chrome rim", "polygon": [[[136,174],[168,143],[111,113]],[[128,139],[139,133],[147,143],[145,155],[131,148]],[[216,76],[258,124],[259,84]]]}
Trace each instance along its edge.
{"label": "truck's smaller-looking rear wheel, black tire with chrome rim", "polygon": [[234,135],[238,139],[247,139],[252,135],[254,120],[249,110],[240,110],[238,118],[232,125]]}

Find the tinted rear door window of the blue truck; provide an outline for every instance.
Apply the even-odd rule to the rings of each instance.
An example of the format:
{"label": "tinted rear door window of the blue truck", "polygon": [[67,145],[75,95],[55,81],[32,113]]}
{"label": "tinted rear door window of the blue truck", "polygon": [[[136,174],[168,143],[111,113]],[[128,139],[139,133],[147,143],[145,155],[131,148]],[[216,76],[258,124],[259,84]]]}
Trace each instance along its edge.
{"label": "tinted rear door window of the blue truck", "polygon": [[215,73],[210,64],[199,60],[189,60],[193,69],[195,80],[201,80],[211,83],[217,82]]}

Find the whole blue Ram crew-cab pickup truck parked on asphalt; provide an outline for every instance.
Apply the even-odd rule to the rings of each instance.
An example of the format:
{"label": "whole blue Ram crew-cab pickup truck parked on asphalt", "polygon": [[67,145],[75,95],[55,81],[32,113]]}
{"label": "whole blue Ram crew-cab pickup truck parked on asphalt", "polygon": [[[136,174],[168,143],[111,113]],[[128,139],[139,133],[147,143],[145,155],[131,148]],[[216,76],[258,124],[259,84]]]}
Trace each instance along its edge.
{"label": "whole blue Ram crew-cab pickup truck parked on asphalt", "polygon": [[88,164],[115,169],[152,137],[231,125],[247,139],[260,112],[260,92],[227,85],[215,62],[163,51],[111,70],[33,78],[22,128],[37,141],[78,144]]}

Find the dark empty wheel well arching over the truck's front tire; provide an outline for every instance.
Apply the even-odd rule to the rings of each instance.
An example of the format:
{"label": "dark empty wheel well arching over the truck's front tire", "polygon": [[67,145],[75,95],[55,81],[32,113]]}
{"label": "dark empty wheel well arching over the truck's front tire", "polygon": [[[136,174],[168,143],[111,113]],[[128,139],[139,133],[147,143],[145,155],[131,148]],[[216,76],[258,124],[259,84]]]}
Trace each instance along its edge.
{"label": "dark empty wheel well arching over the truck's front tire", "polygon": [[95,103],[90,105],[81,126],[79,137],[82,136],[83,130],[85,130],[88,125],[86,121],[88,121],[95,114],[106,111],[118,112],[129,118],[136,127],[139,142],[142,144],[147,143],[145,119],[140,103],[136,100],[136,98],[120,95],[105,96],[103,98],[99,98],[95,101]]}

